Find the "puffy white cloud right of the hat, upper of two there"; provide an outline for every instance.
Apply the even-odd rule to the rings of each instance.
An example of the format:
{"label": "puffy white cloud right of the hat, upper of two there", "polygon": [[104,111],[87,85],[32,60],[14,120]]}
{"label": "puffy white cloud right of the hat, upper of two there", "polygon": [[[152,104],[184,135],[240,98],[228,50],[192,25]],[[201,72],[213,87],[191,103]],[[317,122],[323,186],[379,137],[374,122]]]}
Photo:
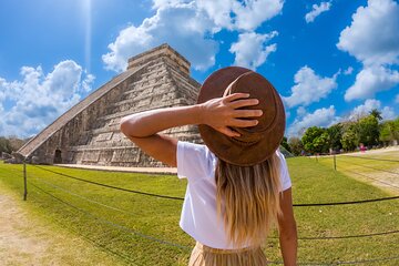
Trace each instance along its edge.
{"label": "puffy white cloud right of the hat, upper of two there", "polygon": [[294,81],[296,84],[291,88],[291,95],[283,98],[288,108],[318,102],[337,88],[336,74],[332,78],[321,78],[307,65],[298,70]]}

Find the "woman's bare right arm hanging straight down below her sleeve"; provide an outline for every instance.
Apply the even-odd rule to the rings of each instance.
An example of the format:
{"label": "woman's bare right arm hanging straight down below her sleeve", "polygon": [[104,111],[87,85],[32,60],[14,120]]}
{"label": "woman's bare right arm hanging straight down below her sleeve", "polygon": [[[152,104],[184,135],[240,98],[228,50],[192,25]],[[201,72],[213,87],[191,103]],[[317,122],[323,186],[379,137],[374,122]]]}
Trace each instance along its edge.
{"label": "woman's bare right arm hanging straight down below her sleeve", "polygon": [[291,188],[283,192],[280,198],[283,215],[278,219],[279,243],[285,266],[297,265],[298,236],[293,211]]}

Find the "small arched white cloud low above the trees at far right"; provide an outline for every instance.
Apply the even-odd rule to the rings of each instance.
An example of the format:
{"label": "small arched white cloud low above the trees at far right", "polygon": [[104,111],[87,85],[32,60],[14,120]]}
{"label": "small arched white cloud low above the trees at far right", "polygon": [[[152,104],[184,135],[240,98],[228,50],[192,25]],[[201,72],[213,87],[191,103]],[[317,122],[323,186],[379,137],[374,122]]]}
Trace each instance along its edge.
{"label": "small arched white cloud low above the trees at far right", "polygon": [[395,111],[392,108],[383,106],[381,109],[381,102],[376,99],[367,99],[364,104],[356,106],[349,114],[349,120],[358,120],[359,117],[368,115],[374,109],[381,112],[383,120],[395,119]]}

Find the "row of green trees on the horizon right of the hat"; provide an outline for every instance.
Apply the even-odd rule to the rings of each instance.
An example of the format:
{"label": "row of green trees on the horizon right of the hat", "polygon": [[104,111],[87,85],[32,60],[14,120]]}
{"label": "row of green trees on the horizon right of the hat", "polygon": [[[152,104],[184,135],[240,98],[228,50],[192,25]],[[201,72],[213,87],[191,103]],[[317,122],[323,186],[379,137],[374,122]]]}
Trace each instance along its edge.
{"label": "row of green trees on the horizon right of the hat", "polygon": [[355,121],[344,121],[329,127],[308,127],[301,137],[284,137],[282,145],[294,155],[350,152],[399,142],[399,117],[382,121],[375,109]]}

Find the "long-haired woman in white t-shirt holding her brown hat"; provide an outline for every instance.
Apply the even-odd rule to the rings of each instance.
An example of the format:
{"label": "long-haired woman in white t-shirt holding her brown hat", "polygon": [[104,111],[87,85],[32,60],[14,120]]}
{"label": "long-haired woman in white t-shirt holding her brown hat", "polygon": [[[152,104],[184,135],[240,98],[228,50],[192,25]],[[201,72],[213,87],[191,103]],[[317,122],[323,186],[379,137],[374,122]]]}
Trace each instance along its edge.
{"label": "long-haired woman in white t-shirt holding her brown hat", "polygon": [[[188,180],[180,222],[197,242],[188,265],[264,266],[260,246],[274,225],[284,265],[296,265],[291,182],[278,150],[285,123],[273,85],[236,66],[208,76],[195,105],[122,119],[130,140]],[[188,124],[198,124],[205,145],[158,133]]]}

